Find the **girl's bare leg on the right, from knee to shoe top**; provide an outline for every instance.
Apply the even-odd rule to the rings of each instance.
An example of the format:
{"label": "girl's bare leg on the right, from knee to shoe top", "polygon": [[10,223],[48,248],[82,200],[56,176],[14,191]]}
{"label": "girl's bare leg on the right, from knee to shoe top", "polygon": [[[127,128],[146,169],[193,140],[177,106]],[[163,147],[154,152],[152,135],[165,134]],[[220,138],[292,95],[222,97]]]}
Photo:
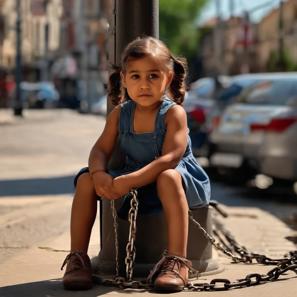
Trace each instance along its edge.
{"label": "girl's bare leg on the right, from knee to shoe top", "polygon": [[186,258],[189,208],[180,173],[174,169],[162,172],[157,189],[166,219],[168,254]]}

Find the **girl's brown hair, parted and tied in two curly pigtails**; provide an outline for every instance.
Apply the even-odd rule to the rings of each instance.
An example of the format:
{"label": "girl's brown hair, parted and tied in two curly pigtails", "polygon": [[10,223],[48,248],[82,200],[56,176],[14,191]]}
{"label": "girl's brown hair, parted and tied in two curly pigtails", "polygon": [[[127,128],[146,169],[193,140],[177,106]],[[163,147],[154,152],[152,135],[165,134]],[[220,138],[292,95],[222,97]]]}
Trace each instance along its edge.
{"label": "girl's brown hair, parted and tied in two curly pigtails", "polygon": [[164,42],[153,37],[138,37],[133,40],[125,47],[121,55],[121,63],[119,65],[111,64],[115,70],[108,75],[106,86],[107,96],[111,97],[113,105],[119,105],[131,99],[127,89],[123,86],[121,70],[126,72],[127,61],[145,56],[158,61],[167,72],[173,73],[173,79],[168,89],[165,90],[165,95],[182,105],[187,91],[187,61],[183,56],[173,56]]}

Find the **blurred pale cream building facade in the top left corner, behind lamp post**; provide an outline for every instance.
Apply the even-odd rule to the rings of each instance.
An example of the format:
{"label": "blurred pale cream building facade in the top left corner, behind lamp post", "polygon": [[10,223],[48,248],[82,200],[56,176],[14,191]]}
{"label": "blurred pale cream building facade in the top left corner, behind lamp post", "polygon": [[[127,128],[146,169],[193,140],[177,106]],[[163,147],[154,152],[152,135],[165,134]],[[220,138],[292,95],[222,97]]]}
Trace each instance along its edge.
{"label": "blurred pale cream building facade in the top left corner, behind lamp post", "polygon": [[[55,58],[59,49],[62,12],[62,0],[21,0],[24,65],[42,71],[45,55],[48,55],[48,59]],[[16,56],[16,0],[2,0],[1,19],[0,64],[13,68]]]}

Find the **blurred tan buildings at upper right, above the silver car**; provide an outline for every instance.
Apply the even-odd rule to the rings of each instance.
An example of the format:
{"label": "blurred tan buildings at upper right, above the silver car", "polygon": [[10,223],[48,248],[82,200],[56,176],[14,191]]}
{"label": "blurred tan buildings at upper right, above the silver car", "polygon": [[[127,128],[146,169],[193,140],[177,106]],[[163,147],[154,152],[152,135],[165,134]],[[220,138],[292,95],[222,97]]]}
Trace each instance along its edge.
{"label": "blurred tan buildings at upper right, above the silver car", "polygon": [[245,14],[219,23],[213,18],[201,30],[199,56],[206,76],[288,70],[277,67],[281,58],[297,65],[297,0],[284,2],[257,24]]}

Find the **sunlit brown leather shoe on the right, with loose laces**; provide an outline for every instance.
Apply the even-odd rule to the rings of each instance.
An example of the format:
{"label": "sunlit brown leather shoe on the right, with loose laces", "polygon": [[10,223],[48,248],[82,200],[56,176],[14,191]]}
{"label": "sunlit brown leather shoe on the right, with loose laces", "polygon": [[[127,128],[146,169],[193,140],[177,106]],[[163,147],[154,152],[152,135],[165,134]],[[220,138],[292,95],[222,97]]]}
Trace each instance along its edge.
{"label": "sunlit brown leather shoe on the right, with loose laces", "polygon": [[169,254],[157,263],[147,282],[151,282],[154,275],[159,273],[155,279],[155,290],[181,291],[187,286],[191,267],[192,263],[187,259]]}

